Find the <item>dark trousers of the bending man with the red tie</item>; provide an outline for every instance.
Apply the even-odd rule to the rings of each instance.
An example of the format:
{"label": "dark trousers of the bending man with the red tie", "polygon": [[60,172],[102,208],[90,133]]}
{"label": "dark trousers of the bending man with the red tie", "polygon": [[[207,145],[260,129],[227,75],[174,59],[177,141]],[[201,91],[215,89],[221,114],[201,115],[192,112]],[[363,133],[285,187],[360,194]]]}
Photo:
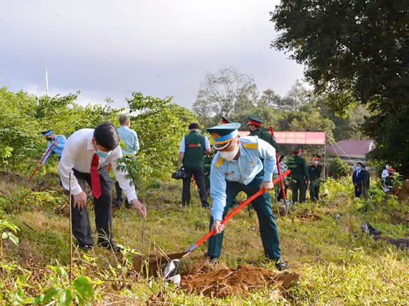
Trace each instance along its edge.
{"label": "dark trousers of the bending man with the red tie", "polygon": [[[82,190],[85,190],[85,183],[91,186],[91,175],[79,172],[74,169],[74,175],[78,180]],[[99,199],[93,199],[95,207],[95,225],[98,232],[98,244],[108,244],[112,242],[112,184],[107,167],[99,169],[102,195]],[[72,199],[72,225],[73,234],[79,245],[93,245],[93,231],[89,223],[87,208],[79,210],[74,206]]]}

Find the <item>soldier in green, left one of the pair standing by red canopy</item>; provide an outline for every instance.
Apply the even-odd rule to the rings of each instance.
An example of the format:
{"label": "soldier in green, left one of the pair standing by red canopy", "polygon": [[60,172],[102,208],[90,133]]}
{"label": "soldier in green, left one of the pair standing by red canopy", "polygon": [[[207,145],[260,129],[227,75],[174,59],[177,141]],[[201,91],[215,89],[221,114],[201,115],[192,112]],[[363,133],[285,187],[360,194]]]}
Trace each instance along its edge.
{"label": "soldier in green, left one of the pair standing by red canopy", "polygon": [[309,181],[308,168],[305,159],[301,157],[301,146],[297,146],[292,153],[294,154],[293,161],[287,164],[287,167],[291,169],[292,202],[304,203]]}

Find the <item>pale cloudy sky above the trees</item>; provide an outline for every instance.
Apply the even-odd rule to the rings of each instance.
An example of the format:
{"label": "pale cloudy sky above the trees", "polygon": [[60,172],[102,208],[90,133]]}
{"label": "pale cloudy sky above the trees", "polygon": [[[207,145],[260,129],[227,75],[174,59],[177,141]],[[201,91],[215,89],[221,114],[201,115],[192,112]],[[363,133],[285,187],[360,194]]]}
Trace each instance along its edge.
{"label": "pale cloudy sky above the trees", "polygon": [[270,49],[279,0],[3,0],[0,86],[126,107],[131,91],[191,108],[206,74],[234,67],[285,95],[303,67]]}

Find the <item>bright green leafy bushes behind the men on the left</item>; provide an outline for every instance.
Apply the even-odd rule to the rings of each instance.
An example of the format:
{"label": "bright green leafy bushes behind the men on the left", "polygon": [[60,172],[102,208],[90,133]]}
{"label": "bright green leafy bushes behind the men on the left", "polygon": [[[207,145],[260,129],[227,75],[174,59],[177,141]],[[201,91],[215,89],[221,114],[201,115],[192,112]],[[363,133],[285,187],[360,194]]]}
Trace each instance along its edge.
{"label": "bright green leafy bushes behind the men on the left", "polygon": [[[36,97],[24,91],[0,88],[0,167],[29,173],[41,159],[47,142],[41,131],[69,137],[82,128],[95,128],[110,121],[119,126],[118,115],[124,109],[108,105],[81,106],[76,101],[80,92],[66,96]],[[171,103],[172,98],[144,97],[132,92],[127,99],[132,128],[137,131],[141,150],[139,166],[145,176],[164,176],[173,170],[181,137],[194,121],[188,109]],[[47,163],[46,167],[51,167]],[[0,168],[0,169],[1,169]]]}

